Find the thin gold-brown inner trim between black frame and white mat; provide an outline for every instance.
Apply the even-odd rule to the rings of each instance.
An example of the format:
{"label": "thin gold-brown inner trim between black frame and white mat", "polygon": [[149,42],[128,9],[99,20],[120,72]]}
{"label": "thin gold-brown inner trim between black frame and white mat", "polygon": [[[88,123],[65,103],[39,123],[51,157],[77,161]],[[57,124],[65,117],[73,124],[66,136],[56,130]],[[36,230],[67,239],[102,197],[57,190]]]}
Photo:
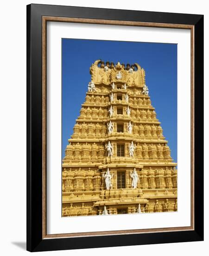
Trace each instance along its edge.
{"label": "thin gold-brown inner trim between black frame and white mat", "polygon": [[[191,34],[191,223],[189,227],[171,227],[158,229],[130,229],[130,230],[114,230],[114,231],[98,231],[98,232],[80,232],[67,234],[51,234],[46,232],[46,25],[47,21],[57,22],[73,22],[73,23],[89,23],[103,25],[120,25],[120,26],[136,26],[136,27],[164,27],[190,29]],[[185,24],[170,24],[170,23],[152,23],[124,20],[98,20],[98,19],[83,19],[83,18],[65,18],[65,17],[42,17],[42,238],[61,238],[61,237],[79,237],[79,236],[105,236],[105,235],[124,235],[124,234],[142,234],[156,232],[171,232],[194,230],[194,26]]]}

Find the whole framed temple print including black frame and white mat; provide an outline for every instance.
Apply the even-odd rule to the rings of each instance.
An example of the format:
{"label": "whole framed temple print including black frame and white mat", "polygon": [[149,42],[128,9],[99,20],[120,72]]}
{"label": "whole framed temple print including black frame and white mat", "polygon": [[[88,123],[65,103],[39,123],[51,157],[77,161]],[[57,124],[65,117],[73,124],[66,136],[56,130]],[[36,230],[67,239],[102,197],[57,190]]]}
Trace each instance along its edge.
{"label": "whole framed temple print including black frame and white mat", "polygon": [[27,250],[203,240],[203,15],[27,6]]}

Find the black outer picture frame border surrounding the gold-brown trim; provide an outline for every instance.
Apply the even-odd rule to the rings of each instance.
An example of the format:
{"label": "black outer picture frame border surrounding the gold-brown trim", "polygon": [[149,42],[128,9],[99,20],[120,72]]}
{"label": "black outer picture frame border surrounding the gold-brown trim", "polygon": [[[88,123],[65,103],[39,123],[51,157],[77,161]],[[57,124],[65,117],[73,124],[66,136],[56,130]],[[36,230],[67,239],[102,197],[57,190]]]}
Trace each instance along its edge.
{"label": "black outer picture frame border surrounding the gold-brown trim", "polygon": [[[42,17],[194,26],[194,230],[43,238]],[[155,27],[153,25],[153,27]],[[31,4],[27,6],[27,250],[129,246],[203,240],[203,15]]]}

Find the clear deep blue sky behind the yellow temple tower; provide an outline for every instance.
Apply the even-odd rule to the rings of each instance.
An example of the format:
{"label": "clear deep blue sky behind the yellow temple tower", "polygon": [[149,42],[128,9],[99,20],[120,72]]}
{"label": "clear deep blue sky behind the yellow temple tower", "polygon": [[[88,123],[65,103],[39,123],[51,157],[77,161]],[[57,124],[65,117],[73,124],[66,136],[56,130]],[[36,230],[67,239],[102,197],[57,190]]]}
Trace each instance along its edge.
{"label": "clear deep blue sky behind the yellow temple tower", "polygon": [[98,59],[145,69],[152,106],[177,162],[177,44],[105,40],[62,39],[62,157],[85,101],[89,67]]}

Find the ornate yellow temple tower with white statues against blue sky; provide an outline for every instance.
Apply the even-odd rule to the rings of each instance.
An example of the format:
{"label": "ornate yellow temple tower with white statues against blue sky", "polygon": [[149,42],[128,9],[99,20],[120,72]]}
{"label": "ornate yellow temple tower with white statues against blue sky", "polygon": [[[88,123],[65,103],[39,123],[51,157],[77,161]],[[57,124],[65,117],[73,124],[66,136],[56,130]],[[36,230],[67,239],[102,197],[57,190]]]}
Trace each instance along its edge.
{"label": "ornate yellow temple tower with white statues against blue sky", "polygon": [[62,168],[62,216],[177,211],[177,164],[145,70],[95,61]]}

